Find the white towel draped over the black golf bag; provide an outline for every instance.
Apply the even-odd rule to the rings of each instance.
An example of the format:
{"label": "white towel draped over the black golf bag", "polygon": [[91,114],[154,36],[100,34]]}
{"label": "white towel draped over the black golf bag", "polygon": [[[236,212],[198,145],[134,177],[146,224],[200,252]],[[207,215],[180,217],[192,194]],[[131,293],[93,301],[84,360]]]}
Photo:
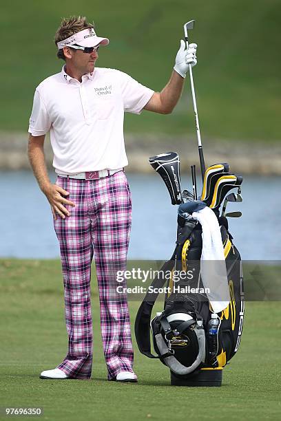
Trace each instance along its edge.
{"label": "white towel draped over the black golf bag", "polygon": [[215,313],[221,312],[229,305],[229,286],[225,252],[220,235],[220,226],[213,210],[207,206],[192,217],[202,226],[201,277],[207,297]]}

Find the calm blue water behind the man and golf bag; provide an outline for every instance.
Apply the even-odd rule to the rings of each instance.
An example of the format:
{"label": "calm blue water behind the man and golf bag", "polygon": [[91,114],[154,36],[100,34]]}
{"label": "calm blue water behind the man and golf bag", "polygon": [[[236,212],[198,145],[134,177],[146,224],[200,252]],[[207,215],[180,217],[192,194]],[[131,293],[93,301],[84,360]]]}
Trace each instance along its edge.
{"label": "calm blue water behind the man and golf bag", "polygon": [[[127,175],[132,191],[133,224],[130,259],[168,259],[176,240],[176,206],[155,173]],[[51,174],[54,181],[55,175]],[[191,190],[190,178],[182,187]],[[0,257],[59,257],[47,199],[29,171],[0,172]],[[199,188],[198,188],[199,191]],[[244,177],[241,210],[229,219],[230,231],[243,259],[281,259],[281,189],[278,177]]]}

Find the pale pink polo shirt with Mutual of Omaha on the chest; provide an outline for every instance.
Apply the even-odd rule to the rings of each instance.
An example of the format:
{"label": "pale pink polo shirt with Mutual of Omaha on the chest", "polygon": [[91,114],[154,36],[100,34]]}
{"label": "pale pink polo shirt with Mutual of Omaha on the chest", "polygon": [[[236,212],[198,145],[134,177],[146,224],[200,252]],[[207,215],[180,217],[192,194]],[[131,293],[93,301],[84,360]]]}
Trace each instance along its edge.
{"label": "pale pink polo shirt with Mutual of Omaha on the chest", "polygon": [[122,168],[128,164],[124,111],[141,114],[153,94],[116,69],[97,67],[80,83],[63,67],[37,87],[28,131],[50,130],[56,173]]}

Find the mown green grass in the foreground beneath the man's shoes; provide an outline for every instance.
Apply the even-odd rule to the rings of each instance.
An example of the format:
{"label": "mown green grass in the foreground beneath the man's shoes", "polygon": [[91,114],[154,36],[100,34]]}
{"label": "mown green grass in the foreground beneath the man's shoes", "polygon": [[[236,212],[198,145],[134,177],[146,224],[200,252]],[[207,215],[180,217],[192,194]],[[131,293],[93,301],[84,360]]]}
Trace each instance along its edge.
{"label": "mown green grass in the foreground beneath the man's shoes", "polygon": [[[94,277],[93,277],[94,278]],[[59,261],[0,260],[0,407],[43,407],[45,420],[279,420],[279,302],[247,303],[238,355],[221,388],[169,385],[169,371],[141,356],[138,385],[108,382],[92,279],[92,379],[40,380],[65,356],[67,336]],[[132,323],[139,303],[131,302]]]}

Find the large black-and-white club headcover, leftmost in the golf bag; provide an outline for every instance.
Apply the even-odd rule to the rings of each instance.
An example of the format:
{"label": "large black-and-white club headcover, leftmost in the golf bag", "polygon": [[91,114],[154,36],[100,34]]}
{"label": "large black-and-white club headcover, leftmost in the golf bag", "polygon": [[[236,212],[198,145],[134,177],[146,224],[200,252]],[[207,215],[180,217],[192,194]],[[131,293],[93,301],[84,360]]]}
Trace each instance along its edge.
{"label": "large black-and-white club headcover, leftmost in the golf bag", "polygon": [[183,202],[180,188],[180,158],[176,152],[160,153],[149,158],[149,164],[164,180],[171,204]]}

